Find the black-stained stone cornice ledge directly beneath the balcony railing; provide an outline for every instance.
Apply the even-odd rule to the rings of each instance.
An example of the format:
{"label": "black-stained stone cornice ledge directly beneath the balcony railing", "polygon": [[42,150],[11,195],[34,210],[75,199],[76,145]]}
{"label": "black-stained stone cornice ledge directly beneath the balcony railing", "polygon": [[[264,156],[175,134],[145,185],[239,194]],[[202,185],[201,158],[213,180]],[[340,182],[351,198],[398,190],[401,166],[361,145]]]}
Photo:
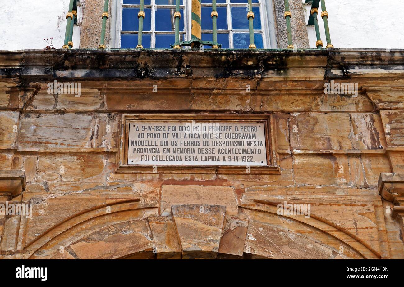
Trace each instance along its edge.
{"label": "black-stained stone cornice ledge directly beneath the balcony railing", "polygon": [[349,79],[404,77],[403,67],[404,49],[0,51],[0,77],[11,78]]}

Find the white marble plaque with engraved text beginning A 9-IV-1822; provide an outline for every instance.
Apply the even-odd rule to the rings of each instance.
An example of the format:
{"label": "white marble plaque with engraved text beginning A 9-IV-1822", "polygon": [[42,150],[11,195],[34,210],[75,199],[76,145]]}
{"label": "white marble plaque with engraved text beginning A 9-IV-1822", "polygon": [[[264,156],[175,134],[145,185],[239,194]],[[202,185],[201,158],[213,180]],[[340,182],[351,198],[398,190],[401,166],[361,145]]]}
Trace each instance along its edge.
{"label": "white marble plaque with engraved text beginning A 9-IV-1822", "polygon": [[265,125],[130,123],[128,165],[265,166]]}

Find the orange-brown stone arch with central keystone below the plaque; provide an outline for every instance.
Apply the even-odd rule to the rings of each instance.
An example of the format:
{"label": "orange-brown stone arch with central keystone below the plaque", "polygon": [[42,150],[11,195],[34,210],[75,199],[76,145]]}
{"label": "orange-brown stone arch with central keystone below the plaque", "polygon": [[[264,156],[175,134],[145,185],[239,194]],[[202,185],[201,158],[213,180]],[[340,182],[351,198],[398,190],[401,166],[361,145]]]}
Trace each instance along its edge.
{"label": "orange-brown stone arch with central keystone below the plaque", "polygon": [[[334,245],[343,240],[310,223],[304,223],[305,228],[321,234],[318,240],[248,219],[245,207],[240,209],[239,218],[226,215],[225,206],[182,204],[171,206],[170,214],[155,215],[136,203],[120,203],[110,214],[91,210],[48,231],[29,246],[29,258],[307,258],[308,252],[313,258],[371,258],[351,248],[351,242],[345,242],[350,246],[345,255],[338,254]],[[263,210],[254,212],[269,216]],[[303,223],[293,224],[303,228],[298,226]],[[321,242],[323,237],[330,246]]]}

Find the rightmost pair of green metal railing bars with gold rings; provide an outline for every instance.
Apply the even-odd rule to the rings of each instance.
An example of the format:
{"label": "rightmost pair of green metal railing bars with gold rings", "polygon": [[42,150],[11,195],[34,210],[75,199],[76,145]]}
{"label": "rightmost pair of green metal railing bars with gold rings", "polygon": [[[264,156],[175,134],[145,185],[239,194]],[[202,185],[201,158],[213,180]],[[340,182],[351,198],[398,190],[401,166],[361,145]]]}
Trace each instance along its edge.
{"label": "rightmost pair of green metal railing bars with gold rings", "polygon": [[328,12],[326,10],[326,3],[325,0],[306,0],[306,3],[311,2],[311,10],[310,10],[310,16],[309,16],[309,21],[307,25],[314,25],[314,28],[316,29],[316,47],[317,48],[322,48],[323,47],[323,42],[321,41],[321,36],[320,36],[320,28],[318,25],[318,7],[321,2],[321,18],[323,19],[324,23],[324,30],[326,34],[326,41],[327,41],[327,46],[326,48],[334,48],[334,46],[331,44],[331,37],[330,37],[330,29],[328,27]]}

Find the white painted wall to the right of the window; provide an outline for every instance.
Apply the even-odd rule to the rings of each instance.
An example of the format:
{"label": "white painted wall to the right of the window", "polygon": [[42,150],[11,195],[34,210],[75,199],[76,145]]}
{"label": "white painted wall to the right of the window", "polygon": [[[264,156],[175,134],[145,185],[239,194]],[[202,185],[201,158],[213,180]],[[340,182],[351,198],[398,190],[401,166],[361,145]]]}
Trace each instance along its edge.
{"label": "white painted wall to the right of the window", "polygon": [[[404,48],[404,0],[325,0],[325,4],[335,48]],[[310,5],[305,5],[306,23],[310,9]],[[320,14],[321,4],[318,10]],[[320,15],[318,22],[325,48],[326,36]],[[307,31],[310,48],[316,48],[314,26],[307,26]]]}

